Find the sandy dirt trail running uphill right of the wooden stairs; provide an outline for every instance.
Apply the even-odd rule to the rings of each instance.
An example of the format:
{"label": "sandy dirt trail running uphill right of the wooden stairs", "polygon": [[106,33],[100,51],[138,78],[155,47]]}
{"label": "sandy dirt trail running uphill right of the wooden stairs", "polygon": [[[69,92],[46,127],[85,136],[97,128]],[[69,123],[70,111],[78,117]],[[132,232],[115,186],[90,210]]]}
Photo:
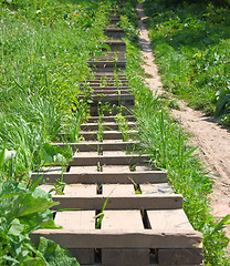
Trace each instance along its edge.
{"label": "sandy dirt trail running uphill right of the wooden stairs", "polygon": [[[157,65],[148,38],[144,20],[147,18],[142,4],[137,7],[139,20],[139,42],[143,48],[143,68],[148,74],[146,82],[154,93],[161,93],[161,82],[158,75]],[[192,133],[191,141],[199,146],[200,157],[206,163],[212,174],[215,184],[213,193],[210,195],[212,214],[216,217],[224,217],[230,214],[230,133],[221,129],[213,119],[206,116],[200,111],[195,111],[179,101],[180,110],[171,110],[171,115],[178,121],[181,120],[182,127]],[[230,237],[230,226],[227,228],[227,235]],[[230,248],[229,248],[230,250]]]}

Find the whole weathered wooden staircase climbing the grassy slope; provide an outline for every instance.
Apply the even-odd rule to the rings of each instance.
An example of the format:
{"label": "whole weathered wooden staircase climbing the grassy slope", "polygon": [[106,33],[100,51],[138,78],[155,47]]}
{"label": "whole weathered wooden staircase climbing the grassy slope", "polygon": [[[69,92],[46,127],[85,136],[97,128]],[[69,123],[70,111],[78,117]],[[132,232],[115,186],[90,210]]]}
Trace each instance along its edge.
{"label": "whole weathered wooden staircase climbing the grassy slope", "polygon": [[[66,183],[64,195],[52,193],[53,200],[60,202],[55,208],[80,211],[56,213],[54,222],[63,228],[38,229],[31,238],[34,243],[40,236],[55,241],[69,248],[81,265],[201,265],[202,235],[189,224],[182,196],[172,192],[166,172],[148,166],[148,155],[134,152],[138,143],[133,139],[138,132],[128,110],[134,106],[135,96],[124,74],[126,44],[122,39],[124,30],[116,27],[118,21],[117,10],[112,11],[111,25],[105,29],[111,49],[88,62],[94,70],[94,79],[86,81],[93,101],[92,116],[81,125],[84,141],[70,143],[75,153],[64,173],[60,166],[43,173],[50,183],[61,176]],[[84,88],[83,83],[82,99]],[[126,108],[123,115],[128,140],[124,141],[115,119],[119,109],[100,117],[98,102]],[[100,119],[103,142],[96,134]],[[49,182],[40,188],[49,192]]]}

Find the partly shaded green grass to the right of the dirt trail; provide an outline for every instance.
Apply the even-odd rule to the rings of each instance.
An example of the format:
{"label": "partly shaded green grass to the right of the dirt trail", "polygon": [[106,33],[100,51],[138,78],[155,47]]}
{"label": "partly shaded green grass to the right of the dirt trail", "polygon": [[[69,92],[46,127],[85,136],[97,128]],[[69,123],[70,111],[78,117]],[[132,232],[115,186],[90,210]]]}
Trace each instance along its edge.
{"label": "partly shaded green grass to the right of the dirt trail", "polygon": [[[230,10],[207,1],[178,2],[144,3],[164,88],[228,125]],[[220,90],[224,95],[218,99]]]}

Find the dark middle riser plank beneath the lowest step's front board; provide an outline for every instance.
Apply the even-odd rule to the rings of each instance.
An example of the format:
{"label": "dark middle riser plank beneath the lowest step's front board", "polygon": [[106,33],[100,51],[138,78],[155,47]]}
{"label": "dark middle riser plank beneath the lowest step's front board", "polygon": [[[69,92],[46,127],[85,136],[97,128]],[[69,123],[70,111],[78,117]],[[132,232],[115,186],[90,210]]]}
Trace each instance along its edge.
{"label": "dark middle riser plank beneath the lowest step's front board", "polygon": [[149,265],[148,249],[102,249],[102,265],[140,266]]}

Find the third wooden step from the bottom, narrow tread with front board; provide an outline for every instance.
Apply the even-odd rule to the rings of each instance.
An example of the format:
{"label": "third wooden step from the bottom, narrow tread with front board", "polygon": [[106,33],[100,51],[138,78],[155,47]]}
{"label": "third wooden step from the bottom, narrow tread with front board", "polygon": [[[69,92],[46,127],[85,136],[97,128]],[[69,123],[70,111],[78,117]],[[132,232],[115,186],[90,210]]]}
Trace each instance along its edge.
{"label": "third wooden step from the bottom, narrow tread with front board", "polygon": [[[136,166],[133,172],[124,165],[102,165],[103,172],[98,172],[97,166],[71,166],[69,172],[62,172],[62,167],[43,167],[38,173],[33,173],[31,178],[43,176],[43,181],[54,183],[63,180],[66,184],[157,184],[167,183],[167,173],[151,170],[147,166]],[[42,181],[42,182],[43,182]]]}

